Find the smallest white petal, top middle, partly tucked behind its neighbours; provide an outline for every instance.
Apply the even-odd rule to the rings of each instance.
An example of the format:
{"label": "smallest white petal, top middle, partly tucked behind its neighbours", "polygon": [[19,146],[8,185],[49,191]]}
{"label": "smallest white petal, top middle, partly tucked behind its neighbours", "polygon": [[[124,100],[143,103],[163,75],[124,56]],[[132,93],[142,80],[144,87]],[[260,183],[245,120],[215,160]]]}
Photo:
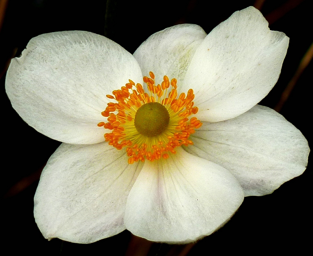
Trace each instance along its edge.
{"label": "smallest white petal, top middle, partly tucked behind its neighbours", "polygon": [[161,84],[163,76],[184,79],[189,63],[199,44],[206,37],[198,25],[180,24],[154,33],[135,51],[142,74],[149,76],[152,71],[156,84]]}

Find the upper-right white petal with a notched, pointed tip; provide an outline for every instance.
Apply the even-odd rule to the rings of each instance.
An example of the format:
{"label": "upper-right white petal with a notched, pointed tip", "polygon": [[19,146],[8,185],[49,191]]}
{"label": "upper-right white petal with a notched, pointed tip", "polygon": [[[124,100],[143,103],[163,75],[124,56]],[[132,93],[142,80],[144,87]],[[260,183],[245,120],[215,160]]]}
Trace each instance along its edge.
{"label": "upper-right white petal with a notched, pointed tip", "polygon": [[197,117],[227,120],[256,105],[277,82],[288,43],[254,7],[220,23],[198,47],[182,87],[194,90]]}

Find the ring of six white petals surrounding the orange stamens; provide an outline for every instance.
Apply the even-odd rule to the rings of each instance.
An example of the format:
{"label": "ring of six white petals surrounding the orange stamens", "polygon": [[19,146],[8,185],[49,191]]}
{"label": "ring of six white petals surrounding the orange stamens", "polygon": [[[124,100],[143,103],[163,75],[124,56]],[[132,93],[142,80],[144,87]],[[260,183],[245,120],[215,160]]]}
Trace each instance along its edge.
{"label": "ring of six white petals surrounding the orange stamens", "polygon": [[[284,33],[270,31],[253,7],[208,35],[196,25],[167,28],[134,55],[89,32],[33,38],[12,60],[6,91],[29,125],[64,142],[44,168],[34,198],[44,237],[91,243],[127,228],[152,241],[194,241],[226,223],[244,196],[271,193],[300,175],[307,141],[280,114],[256,105],[276,83],[288,41]],[[142,83],[143,75],[148,87],[167,82],[167,75],[177,79],[177,92],[192,89],[194,99],[188,99],[198,109],[192,106],[190,117],[202,125],[188,126],[194,133],[171,148],[176,153],[130,161],[129,138],[117,150],[123,138],[104,137],[115,131],[107,114],[118,114],[106,107],[116,104],[112,92],[119,100],[116,91]],[[136,91],[144,95],[139,85]],[[183,123],[191,125],[192,118]]]}

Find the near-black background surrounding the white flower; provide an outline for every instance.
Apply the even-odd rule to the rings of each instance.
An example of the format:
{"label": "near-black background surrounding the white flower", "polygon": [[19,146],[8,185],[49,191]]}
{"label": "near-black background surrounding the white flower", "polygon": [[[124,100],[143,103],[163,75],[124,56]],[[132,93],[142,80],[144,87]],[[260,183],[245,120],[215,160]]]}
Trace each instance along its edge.
{"label": "near-black background surrounding the white flower", "polygon": [[[42,33],[64,30],[86,30],[114,40],[129,52],[152,33],[178,23],[194,23],[209,33],[233,12],[250,5],[259,6],[269,20],[270,29],[284,32],[290,45],[281,75],[274,89],[261,105],[274,108],[287,84],[294,77],[301,59],[312,44],[311,1],[61,1],[3,0],[0,4],[0,75],[3,96],[3,250],[10,254],[101,253],[125,255],[135,246],[131,234],[119,235],[99,242],[81,245],[47,241],[33,218],[33,196],[40,172],[49,156],[59,146],[29,127],[12,109],[5,94],[4,80],[9,59],[19,55],[28,41]],[[0,24],[1,26],[1,24]],[[306,56],[312,56],[307,54]],[[311,64],[295,83],[280,113],[311,141],[312,93]],[[312,172],[286,182],[278,190],[263,197],[246,197],[233,218],[220,230],[189,246],[154,243],[148,254],[136,255],[207,255],[211,253],[255,254],[264,252],[301,251],[308,249],[312,230]],[[142,248],[150,246],[140,240]],[[134,245],[135,244],[135,245]],[[128,255],[131,249],[128,249]],[[181,254],[179,254],[181,253]]]}

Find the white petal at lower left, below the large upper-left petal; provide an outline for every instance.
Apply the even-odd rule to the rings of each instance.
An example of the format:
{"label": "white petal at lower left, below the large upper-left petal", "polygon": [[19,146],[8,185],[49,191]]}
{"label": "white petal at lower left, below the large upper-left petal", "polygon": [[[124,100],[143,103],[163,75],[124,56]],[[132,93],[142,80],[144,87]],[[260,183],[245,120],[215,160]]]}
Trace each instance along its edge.
{"label": "white petal at lower left, below the large upper-left petal", "polygon": [[107,143],[63,143],[44,168],[34,198],[44,237],[92,243],[122,232],[126,199],[142,167],[127,159],[124,150]]}

